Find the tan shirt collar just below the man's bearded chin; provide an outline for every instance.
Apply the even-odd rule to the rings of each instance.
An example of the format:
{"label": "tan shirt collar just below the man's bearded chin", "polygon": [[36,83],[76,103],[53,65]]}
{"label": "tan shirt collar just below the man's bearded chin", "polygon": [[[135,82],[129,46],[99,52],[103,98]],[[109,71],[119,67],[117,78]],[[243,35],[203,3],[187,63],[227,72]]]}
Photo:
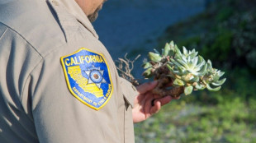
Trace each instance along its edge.
{"label": "tan shirt collar just below the man's bearded chin", "polygon": [[59,2],[61,2],[64,7],[67,8],[68,12],[75,16],[76,19],[98,39],[98,35],[94,30],[92,23],[88,20],[88,16],[85,15],[75,0],[59,0]]}

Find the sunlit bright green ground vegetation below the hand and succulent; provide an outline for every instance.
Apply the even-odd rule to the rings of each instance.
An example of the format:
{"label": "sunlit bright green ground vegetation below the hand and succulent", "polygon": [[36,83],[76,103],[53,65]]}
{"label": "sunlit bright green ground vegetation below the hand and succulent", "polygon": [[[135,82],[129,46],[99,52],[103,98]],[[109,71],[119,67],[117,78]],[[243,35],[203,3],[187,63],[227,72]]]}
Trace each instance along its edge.
{"label": "sunlit bright green ground vegetation below the hand and succulent", "polygon": [[136,124],[136,142],[255,142],[256,118],[250,114],[256,112],[255,104],[255,99],[245,104],[235,98],[206,106],[180,99]]}

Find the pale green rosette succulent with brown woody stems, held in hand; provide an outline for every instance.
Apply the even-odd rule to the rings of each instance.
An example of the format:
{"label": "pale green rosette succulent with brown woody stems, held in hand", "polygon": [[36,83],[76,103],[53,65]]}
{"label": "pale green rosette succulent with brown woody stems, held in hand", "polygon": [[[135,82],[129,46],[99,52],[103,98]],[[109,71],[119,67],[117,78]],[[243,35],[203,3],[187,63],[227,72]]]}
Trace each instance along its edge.
{"label": "pale green rosette succulent with brown woody stems, held in hand", "polygon": [[161,53],[156,49],[149,52],[149,60],[143,64],[143,76],[153,76],[159,81],[153,92],[178,97],[190,95],[193,90],[220,90],[225,82],[225,78],[220,80],[224,72],[213,68],[210,60],[206,62],[197,53],[195,49],[190,51],[185,47],[182,53],[173,41],[166,44]]}

